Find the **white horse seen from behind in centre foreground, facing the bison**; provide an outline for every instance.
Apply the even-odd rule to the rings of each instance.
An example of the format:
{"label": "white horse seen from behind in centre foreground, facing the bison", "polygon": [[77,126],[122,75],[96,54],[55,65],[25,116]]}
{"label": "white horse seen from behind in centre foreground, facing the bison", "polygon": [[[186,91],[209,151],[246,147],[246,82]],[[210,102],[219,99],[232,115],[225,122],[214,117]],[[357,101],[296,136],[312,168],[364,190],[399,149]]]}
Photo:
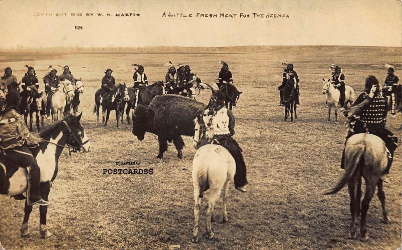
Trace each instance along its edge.
{"label": "white horse seen from behind in centre foreground, facing the bison", "polygon": [[[194,119],[194,138],[193,144],[195,153],[192,161],[192,181],[194,186],[194,228],[192,231],[192,242],[198,241],[198,218],[199,208],[201,206],[201,198],[203,192],[210,189],[208,204],[206,209],[205,227],[209,239],[214,237],[211,229],[211,219],[214,219],[214,205],[221,194],[223,188],[223,218],[222,222],[228,221],[228,213],[226,211],[226,202],[228,197],[229,183],[233,180],[236,172],[235,160],[229,151],[215,144],[210,143],[214,136],[214,129],[211,125],[212,116],[197,116]],[[207,124],[205,121],[208,121]],[[203,145],[204,144],[204,145]]]}

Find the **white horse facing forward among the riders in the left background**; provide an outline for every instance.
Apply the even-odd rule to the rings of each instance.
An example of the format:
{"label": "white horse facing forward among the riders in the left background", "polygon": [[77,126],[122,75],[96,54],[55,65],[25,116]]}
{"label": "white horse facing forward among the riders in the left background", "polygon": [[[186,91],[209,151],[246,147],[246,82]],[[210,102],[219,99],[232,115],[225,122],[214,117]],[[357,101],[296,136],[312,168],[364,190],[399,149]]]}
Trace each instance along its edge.
{"label": "white horse facing forward among the riders in the left background", "polygon": [[[63,113],[66,105],[69,105],[74,98],[75,87],[69,80],[60,82],[57,91],[52,96],[52,122],[58,120],[58,112],[60,111],[60,118],[63,118]],[[56,116],[56,119],[55,119]]]}

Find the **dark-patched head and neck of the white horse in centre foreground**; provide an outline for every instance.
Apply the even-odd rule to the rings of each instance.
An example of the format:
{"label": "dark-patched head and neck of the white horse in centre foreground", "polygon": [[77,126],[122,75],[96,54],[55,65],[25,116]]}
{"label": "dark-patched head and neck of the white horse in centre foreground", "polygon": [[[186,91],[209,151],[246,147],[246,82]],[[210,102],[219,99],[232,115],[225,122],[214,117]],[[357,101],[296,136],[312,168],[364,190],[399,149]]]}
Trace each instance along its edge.
{"label": "dark-patched head and neck of the white horse in centre foreground", "polygon": [[194,137],[193,145],[195,149],[210,143],[214,138],[214,128],[212,126],[213,115],[209,114],[209,110],[205,110],[204,114],[197,115],[194,119]]}

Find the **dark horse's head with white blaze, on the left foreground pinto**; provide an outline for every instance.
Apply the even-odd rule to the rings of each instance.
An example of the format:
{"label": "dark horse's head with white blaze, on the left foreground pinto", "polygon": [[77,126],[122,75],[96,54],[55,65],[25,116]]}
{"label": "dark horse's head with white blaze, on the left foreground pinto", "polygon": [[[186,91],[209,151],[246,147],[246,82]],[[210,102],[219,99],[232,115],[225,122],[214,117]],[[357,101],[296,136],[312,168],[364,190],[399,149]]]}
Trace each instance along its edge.
{"label": "dark horse's head with white blaze, on the left foreground pinto", "polygon": [[71,146],[73,151],[80,151],[82,148],[83,152],[89,152],[91,145],[80,123],[81,116],[82,113],[77,117],[66,116],[63,120],[65,132],[68,133],[67,145]]}

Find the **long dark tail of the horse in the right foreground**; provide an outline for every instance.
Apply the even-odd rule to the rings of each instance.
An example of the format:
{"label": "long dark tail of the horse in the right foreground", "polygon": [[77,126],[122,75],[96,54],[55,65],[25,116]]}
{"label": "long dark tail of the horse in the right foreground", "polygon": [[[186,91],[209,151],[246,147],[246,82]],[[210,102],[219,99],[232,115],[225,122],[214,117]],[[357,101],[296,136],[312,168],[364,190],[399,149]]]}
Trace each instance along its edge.
{"label": "long dark tail of the horse in the right foreground", "polygon": [[356,171],[357,166],[360,166],[360,163],[364,162],[364,153],[366,148],[363,144],[357,145],[354,147],[354,153],[351,157],[351,160],[345,162],[345,173],[338,180],[338,183],[329,189],[323,190],[321,194],[334,194],[341,190],[352,178],[353,174]]}

